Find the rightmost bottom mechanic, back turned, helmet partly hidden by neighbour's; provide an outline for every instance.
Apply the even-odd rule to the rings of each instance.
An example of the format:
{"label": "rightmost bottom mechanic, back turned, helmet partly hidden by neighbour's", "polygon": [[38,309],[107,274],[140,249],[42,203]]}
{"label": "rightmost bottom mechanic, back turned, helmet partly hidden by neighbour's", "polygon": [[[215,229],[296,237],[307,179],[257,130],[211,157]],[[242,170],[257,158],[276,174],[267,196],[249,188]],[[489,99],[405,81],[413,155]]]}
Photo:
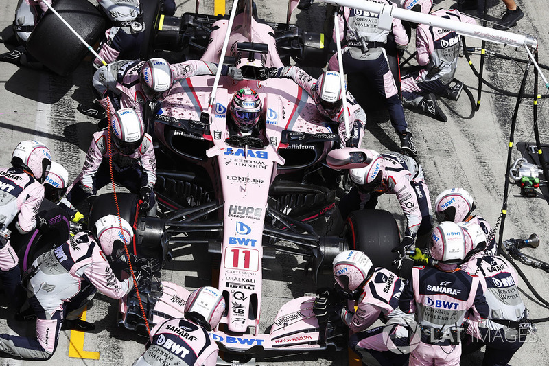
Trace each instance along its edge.
{"label": "rightmost bottom mechanic, back turned, helmet partly hidden by neighbour's", "polygon": [[486,252],[486,235],[474,222],[460,222],[471,240],[467,248],[469,260],[463,271],[484,277],[484,296],[490,308],[486,321],[469,320],[463,353],[480,350],[486,345],[482,365],[507,365],[526,340],[530,329],[528,310],[519,293],[519,277],[515,268],[500,256]]}

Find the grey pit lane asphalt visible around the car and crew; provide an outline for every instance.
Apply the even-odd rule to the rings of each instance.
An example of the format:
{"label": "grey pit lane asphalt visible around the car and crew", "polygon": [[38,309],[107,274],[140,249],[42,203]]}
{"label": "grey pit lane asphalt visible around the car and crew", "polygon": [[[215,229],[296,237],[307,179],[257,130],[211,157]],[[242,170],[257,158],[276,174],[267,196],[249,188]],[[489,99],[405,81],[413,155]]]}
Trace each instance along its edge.
{"label": "grey pit lane asphalt visible around the car and crew", "polygon": [[[176,1],[177,14],[193,11],[194,2]],[[438,1],[436,7],[455,7],[453,0]],[[548,64],[547,45],[549,34],[542,26],[547,19],[546,1],[517,1],[525,13],[513,32],[527,33],[537,36],[539,40],[539,62]],[[257,1],[259,16],[269,21],[285,20],[285,7],[275,1]],[[0,29],[10,27],[16,2],[0,0]],[[211,14],[212,1],[204,1],[200,12]],[[480,3],[482,6],[482,2]],[[500,1],[489,1],[489,20],[500,17],[504,6]],[[477,15],[476,12],[468,12]],[[324,3],[314,3],[312,8],[294,14],[305,30],[321,31],[325,14]],[[3,32],[5,34],[5,32]],[[480,41],[467,39],[468,45],[480,46]],[[501,45],[489,44],[487,49],[502,52]],[[414,51],[414,43],[410,42],[406,56]],[[0,52],[5,52],[5,45],[0,45]],[[505,52],[511,56],[525,58],[524,52],[506,47]],[[479,57],[472,57],[478,67]],[[504,89],[517,91],[522,77],[524,64],[512,61],[487,59],[485,78]],[[318,76],[319,69],[309,69]],[[546,73],[549,74],[548,71]],[[65,165],[71,179],[78,174],[83,163],[85,150],[89,146],[91,134],[95,132],[95,121],[80,115],[75,107],[80,102],[93,98],[91,93],[91,65],[89,61],[82,63],[69,78],[54,76],[45,71],[19,69],[14,65],[2,63],[0,67],[0,165],[6,166],[14,146],[23,139],[38,139],[47,144],[54,153],[54,159]],[[474,93],[476,100],[477,79],[467,66],[465,58],[461,58],[456,78],[463,80]],[[532,91],[530,78],[526,90]],[[515,98],[502,96],[483,87],[480,111],[474,117],[469,117],[471,107],[465,93],[457,102],[443,100],[442,108],[448,115],[448,122],[438,122],[429,117],[406,111],[406,118],[419,150],[418,160],[423,165],[425,176],[430,188],[431,199],[449,187],[463,187],[476,200],[476,213],[495,225],[502,206],[504,192],[504,172],[506,169],[506,153],[509,142],[509,127],[515,107]],[[545,93],[540,87],[539,93]],[[369,93],[355,92],[359,101],[369,100]],[[547,132],[548,107],[539,102],[539,130],[542,141],[549,141]],[[519,110],[515,141],[533,141],[532,102],[523,100]],[[368,111],[363,147],[373,148],[381,152],[395,150],[397,137],[384,112]],[[513,160],[519,157],[513,150]],[[397,206],[394,196],[383,196],[378,208],[384,208],[395,213],[402,225],[403,215]],[[537,233],[541,244],[537,249],[525,249],[524,252],[535,255],[541,260],[549,261],[546,250],[549,234],[546,222],[549,221],[549,206],[541,196],[524,198],[519,195],[519,189],[513,187],[509,194],[509,206],[505,222],[504,238],[526,238],[530,233]],[[211,283],[211,271],[205,249],[180,249],[180,257],[176,258],[163,271],[163,279],[182,284],[187,288],[196,288]],[[314,284],[309,276],[303,273],[301,259],[291,255],[277,255],[277,260],[266,260],[264,264],[263,309],[261,314],[261,330],[264,330],[278,309],[286,301],[314,292]],[[521,268],[526,273],[541,296],[548,298],[549,275],[527,266]],[[321,278],[321,285],[329,284],[329,276]],[[521,283],[522,295],[533,318],[546,317],[548,310],[539,306],[530,292]],[[1,303],[0,303],[1,304]],[[93,306],[87,312],[87,319],[96,325],[94,332],[86,333],[83,346],[78,345],[78,336],[71,336],[70,331],[60,334],[56,354],[47,365],[130,365],[141,352],[144,340],[132,332],[117,328],[115,301],[97,295]],[[12,330],[10,330],[10,328]],[[546,323],[537,325],[537,334],[529,336],[527,343],[515,354],[511,365],[548,365],[548,335],[549,326]],[[25,335],[34,334],[34,323],[19,323],[12,319],[12,314],[0,307],[0,332],[15,332]],[[12,333],[13,334],[13,333]],[[76,357],[69,357],[69,343],[76,345],[79,352]],[[82,352],[84,351],[84,352]],[[99,358],[89,358],[100,352]],[[78,357],[78,354],[82,358]],[[482,352],[476,352],[462,358],[462,365],[478,365],[482,360]],[[301,352],[290,356],[272,355],[258,359],[261,365],[343,365],[347,363],[347,352]],[[0,359],[0,365],[26,365],[29,361],[11,358]]]}

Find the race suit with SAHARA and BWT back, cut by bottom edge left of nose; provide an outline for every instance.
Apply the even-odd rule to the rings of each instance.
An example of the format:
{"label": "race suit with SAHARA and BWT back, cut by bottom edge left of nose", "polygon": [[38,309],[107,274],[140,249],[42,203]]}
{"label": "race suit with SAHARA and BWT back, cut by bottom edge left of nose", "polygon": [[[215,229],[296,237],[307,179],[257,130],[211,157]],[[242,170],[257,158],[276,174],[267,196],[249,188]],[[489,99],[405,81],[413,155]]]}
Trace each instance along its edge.
{"label": "race suit with SAHARA and BWT back, cut by bottom edge left of nose", "polygon": [[218,345],[206,330],[183,318],[170,319],[152,328],[148,348],[133,366],[213,366]]}

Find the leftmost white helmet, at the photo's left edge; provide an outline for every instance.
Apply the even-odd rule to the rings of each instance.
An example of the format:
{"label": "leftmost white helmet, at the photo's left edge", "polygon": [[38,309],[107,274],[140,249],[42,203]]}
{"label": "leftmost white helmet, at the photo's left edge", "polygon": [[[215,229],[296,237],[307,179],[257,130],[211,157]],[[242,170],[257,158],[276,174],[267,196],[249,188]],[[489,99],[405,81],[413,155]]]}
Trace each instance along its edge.
{"label": "leftmost white helmet, at the photo's left edge", "polygon": [[25,170],[39,183],[44,183],[51,168],[51,152],[38,141],[21,141],[12,152],[12,165]]}

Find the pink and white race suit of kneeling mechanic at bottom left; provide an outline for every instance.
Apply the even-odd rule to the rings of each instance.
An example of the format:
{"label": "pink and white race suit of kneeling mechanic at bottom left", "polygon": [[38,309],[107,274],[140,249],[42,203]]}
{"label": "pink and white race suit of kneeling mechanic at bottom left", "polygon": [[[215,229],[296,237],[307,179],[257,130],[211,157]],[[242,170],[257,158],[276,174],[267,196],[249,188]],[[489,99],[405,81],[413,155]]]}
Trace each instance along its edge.
{"label": "pink and white race suit of kneeling mechanic at bottom left", "polygon": [[86,284],[112,299],[132,289],[131,277],[120,282],[100,245],[88,233],[78,233],[56,249],[40,255],[29,270],[27,293],[36,319],[36,338],[0,334],[0,352],[44,360],[54,354],[67,303]]}

